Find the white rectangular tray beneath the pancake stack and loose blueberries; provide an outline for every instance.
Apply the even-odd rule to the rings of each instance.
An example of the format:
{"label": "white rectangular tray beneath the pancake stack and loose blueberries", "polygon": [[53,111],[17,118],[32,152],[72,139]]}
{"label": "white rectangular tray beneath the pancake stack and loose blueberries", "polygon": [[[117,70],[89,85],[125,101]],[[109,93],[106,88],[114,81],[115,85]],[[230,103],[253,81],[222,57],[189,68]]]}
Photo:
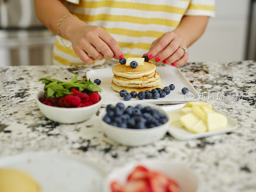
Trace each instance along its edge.
{"label": "white rectangular tray beneath the pancake stack and loose blueberries", "polygon": [[[185,98],[185,95],[182,94],[181,89],[183,87],[187,87],[190,94],[193,95],[193,99],[189,99],[190,101],[198,100],[198,93],[193,85],[188,81],[188,79],[181,73],[180,69],[176,67],[156,67],[156,71],[159,73],[163,86],[169,86],[170,84],[175,85],[175,89],[171,91],[169,95],[166,95],[164,98],[159,99],[144,99],[139,100],[138,97],[132,98],[130,101],[138,101],[140,102],[149,102],[152,104],[178,104],[178,103],[186,103],[188,101]],[[106,69],[94,69],[86,72],[87,79],[100,79],[101,84],[100,88],[103,90],[101,92],[102,96],[102,107],[106,107],[108,104],[116,104],[118,102],[124,102],[125,100],[120,97],[118,92],[115,92],[111,88],[111,81],[113,77],[113,73],[111,68]],[[125,101],[129,102],[129,101]]]}

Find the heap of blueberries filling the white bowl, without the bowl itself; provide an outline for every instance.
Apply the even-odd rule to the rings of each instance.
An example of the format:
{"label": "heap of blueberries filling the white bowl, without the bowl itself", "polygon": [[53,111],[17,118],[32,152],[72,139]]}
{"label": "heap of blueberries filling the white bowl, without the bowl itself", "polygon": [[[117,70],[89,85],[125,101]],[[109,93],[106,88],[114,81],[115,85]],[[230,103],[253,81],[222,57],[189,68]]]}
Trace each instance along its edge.
{"label": "heap of blueberries filling the white bowl, without the bowl itself", "polygon": [[[149,106],[144,108],[141,105],[123,107],[123,103],[117,103],[115,107],[108,105],[103,121],[116,127],[129,129],[148,129],[167,122],[164,114]],[[113,116],[113,114],[115,115]]]}

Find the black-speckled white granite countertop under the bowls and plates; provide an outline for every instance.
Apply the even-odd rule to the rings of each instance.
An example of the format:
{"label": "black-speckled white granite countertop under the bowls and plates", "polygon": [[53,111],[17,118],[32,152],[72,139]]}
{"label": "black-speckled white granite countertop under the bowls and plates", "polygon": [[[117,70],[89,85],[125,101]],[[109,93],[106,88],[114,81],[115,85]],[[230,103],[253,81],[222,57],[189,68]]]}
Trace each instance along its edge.
{"label": "black-speckled white granite countertop under the bowls and plates", "polygon": [[59,124],[36,105],[41,77],[85,78],[102,66],[15,66],[0,68],[0,157],[31,151],[73,154],[106,171],[144,158],[178,161],[206,184],[202,191],[256,191],[256,61],[188,63],[180,69],[205,100],[239,124],[236,131],[179,141],[170,134],[143,147],[119,145],[104,136],[98,116]]}

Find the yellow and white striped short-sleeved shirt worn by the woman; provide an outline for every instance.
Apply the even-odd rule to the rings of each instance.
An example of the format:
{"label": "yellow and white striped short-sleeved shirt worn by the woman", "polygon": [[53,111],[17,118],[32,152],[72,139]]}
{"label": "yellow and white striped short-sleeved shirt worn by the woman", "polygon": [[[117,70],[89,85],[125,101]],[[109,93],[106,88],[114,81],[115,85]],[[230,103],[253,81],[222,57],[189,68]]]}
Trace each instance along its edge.
{"label": "yellow and white striped short-sleeved shirt worn by the woman", "polygon": [[[178,27],[184,15],[214,17],[214,3],[214,0],[80,0],[66,6],[88,25],[104,28],[128,58],[148,52],[151,43]],[[68,40],[64,42],[71,44]],[[72,49],[61,43],[59,36],[53,47],[53,63],[84,64]]]}

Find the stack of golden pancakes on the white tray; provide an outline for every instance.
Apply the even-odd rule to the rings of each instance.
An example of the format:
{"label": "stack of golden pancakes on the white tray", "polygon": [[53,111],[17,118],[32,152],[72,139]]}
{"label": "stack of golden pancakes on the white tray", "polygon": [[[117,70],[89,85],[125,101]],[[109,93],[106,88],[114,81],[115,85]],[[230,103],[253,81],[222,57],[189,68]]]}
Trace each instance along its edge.
{"label": "stack of golden pancakes on the white tray", "polygon": [[159,74],[156,72],[156,66],[150,62],[144,61],[144,65],[137,68],[118,63],[112,68],[112,72],[114,76],[111,87],[116,92],[120,92],[122,89],[130,93],[132,91],[151,91],[157,87],[163,88]]}

